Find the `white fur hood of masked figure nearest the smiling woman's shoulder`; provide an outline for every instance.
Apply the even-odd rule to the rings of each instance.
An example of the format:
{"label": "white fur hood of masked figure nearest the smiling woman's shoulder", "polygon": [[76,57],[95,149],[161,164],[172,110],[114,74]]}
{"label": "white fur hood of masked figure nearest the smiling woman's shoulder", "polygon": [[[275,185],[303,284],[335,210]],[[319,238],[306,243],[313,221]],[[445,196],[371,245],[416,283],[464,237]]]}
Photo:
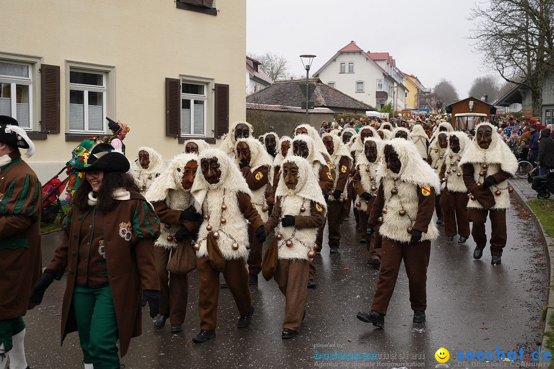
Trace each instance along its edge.
{"label": "white fur hood of masked figure nearest the smiling woman's shoulder", "polygon": [[[183,169],[188,162],[197,161],[196,154],[178,154],[173,158],[168,167],[162,174],[154,180],[150,189],[146,192],[146,200],[150,202],[163,201],[167,199],[167,194],[170,190],[183,190],[181,181],[183,179]],[[179,170],[177,170],[179,169]],[[200,168],[198,168],[200,169]],[[202,171],[198,170],[196,178],[202,176]],[[196,181],[195,178],[195,181]]]}

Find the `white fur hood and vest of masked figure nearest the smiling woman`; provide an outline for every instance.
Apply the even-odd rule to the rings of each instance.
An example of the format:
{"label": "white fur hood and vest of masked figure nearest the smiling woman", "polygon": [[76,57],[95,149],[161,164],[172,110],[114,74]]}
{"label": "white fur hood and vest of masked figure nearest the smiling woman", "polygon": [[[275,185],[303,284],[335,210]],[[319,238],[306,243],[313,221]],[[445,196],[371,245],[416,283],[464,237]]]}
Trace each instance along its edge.
{"label": "white fur hood and vest of masked figure nearest the smiling woman", "polygon": [[[194,205],[197,209],[198,204],[195,204],[194,198],[190,190],[185,190],[181,183],[183,179],[183,168],[188,162],[196,162],[196,154],[179,154],[173,158],[168,167],[162,172],[150,186],[146,192],[146,200],[150,202],[164,201],[172,210],[185,210],[187,207]],[[196,174],[202,175],[202,171],[198,168]],[[180,224],[170,224],[170,228],[166,228],[166,224],[160,227],[161,235],[154,244],[157,247],[175,248],[178,243],[167,241],[167,236],[173,236],[181,228]]]}

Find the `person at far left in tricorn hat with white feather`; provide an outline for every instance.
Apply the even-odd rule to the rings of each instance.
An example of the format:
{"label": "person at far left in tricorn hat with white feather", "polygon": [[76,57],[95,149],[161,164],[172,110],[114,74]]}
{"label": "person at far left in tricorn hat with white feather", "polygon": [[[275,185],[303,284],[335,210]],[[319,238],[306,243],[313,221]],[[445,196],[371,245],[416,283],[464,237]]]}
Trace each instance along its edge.
{"label": "person at far left in tricorn hat with white feather", "polygon": [[23,316],[34,307],[29,292],[42,273],[40,204],[37,175],[21,158],[34,154],[34,144],[16,119],[0,116],[0,368],[28,368]]}

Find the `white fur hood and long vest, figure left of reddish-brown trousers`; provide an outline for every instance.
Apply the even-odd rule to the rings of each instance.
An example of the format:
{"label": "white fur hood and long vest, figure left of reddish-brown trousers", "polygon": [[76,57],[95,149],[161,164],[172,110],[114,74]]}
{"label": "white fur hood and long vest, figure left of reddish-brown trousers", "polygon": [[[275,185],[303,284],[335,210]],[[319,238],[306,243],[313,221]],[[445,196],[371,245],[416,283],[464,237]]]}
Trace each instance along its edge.
{"label": "white fur hood and long vest, figure left of reddish-brown trousers", "polygon": [[[252,192],[237,165],[220,149],[204,150],[198,156],[198,168],[201,168],[202,159],[209,158],[217,159],[221,175],[218,183],[209,184],[204,175],[198,173],[192,185],[191,193],[198,204],[202,204],[202,214],[209,216],[209,219],[204,219],[198,231],[200,250],[196,252],[196,256],[208,256],[206,227],[211,225],[212,231],[219,232],[216,241],[226,260],[246,259],[249,254],[248,221],[240,211],[237,194],[242,192],[252,196]],[[222,205],[227,206],[227,209],[223,210]],[[222,217],[227,219],[225,224],[220,222]],[[234,242],[237,242],[238,250],[233,250]]]}

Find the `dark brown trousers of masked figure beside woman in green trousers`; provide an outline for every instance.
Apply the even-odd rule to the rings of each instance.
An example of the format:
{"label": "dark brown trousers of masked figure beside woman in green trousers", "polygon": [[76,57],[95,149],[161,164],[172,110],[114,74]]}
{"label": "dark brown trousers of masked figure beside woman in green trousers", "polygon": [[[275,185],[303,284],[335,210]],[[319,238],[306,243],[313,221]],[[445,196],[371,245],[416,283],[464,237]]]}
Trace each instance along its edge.
{"label": "dark brown trousers of masked figure beside woman in green trousers", "polygon": [[[175,252],[171,257],[175,256]],[[167,271],[170,261],[170,250],[154,247],[156,271],[160,279],[160,314],[170,315],[171,324],[183,324],[187,313],[188,276],[187,274],[171,274]]]}

